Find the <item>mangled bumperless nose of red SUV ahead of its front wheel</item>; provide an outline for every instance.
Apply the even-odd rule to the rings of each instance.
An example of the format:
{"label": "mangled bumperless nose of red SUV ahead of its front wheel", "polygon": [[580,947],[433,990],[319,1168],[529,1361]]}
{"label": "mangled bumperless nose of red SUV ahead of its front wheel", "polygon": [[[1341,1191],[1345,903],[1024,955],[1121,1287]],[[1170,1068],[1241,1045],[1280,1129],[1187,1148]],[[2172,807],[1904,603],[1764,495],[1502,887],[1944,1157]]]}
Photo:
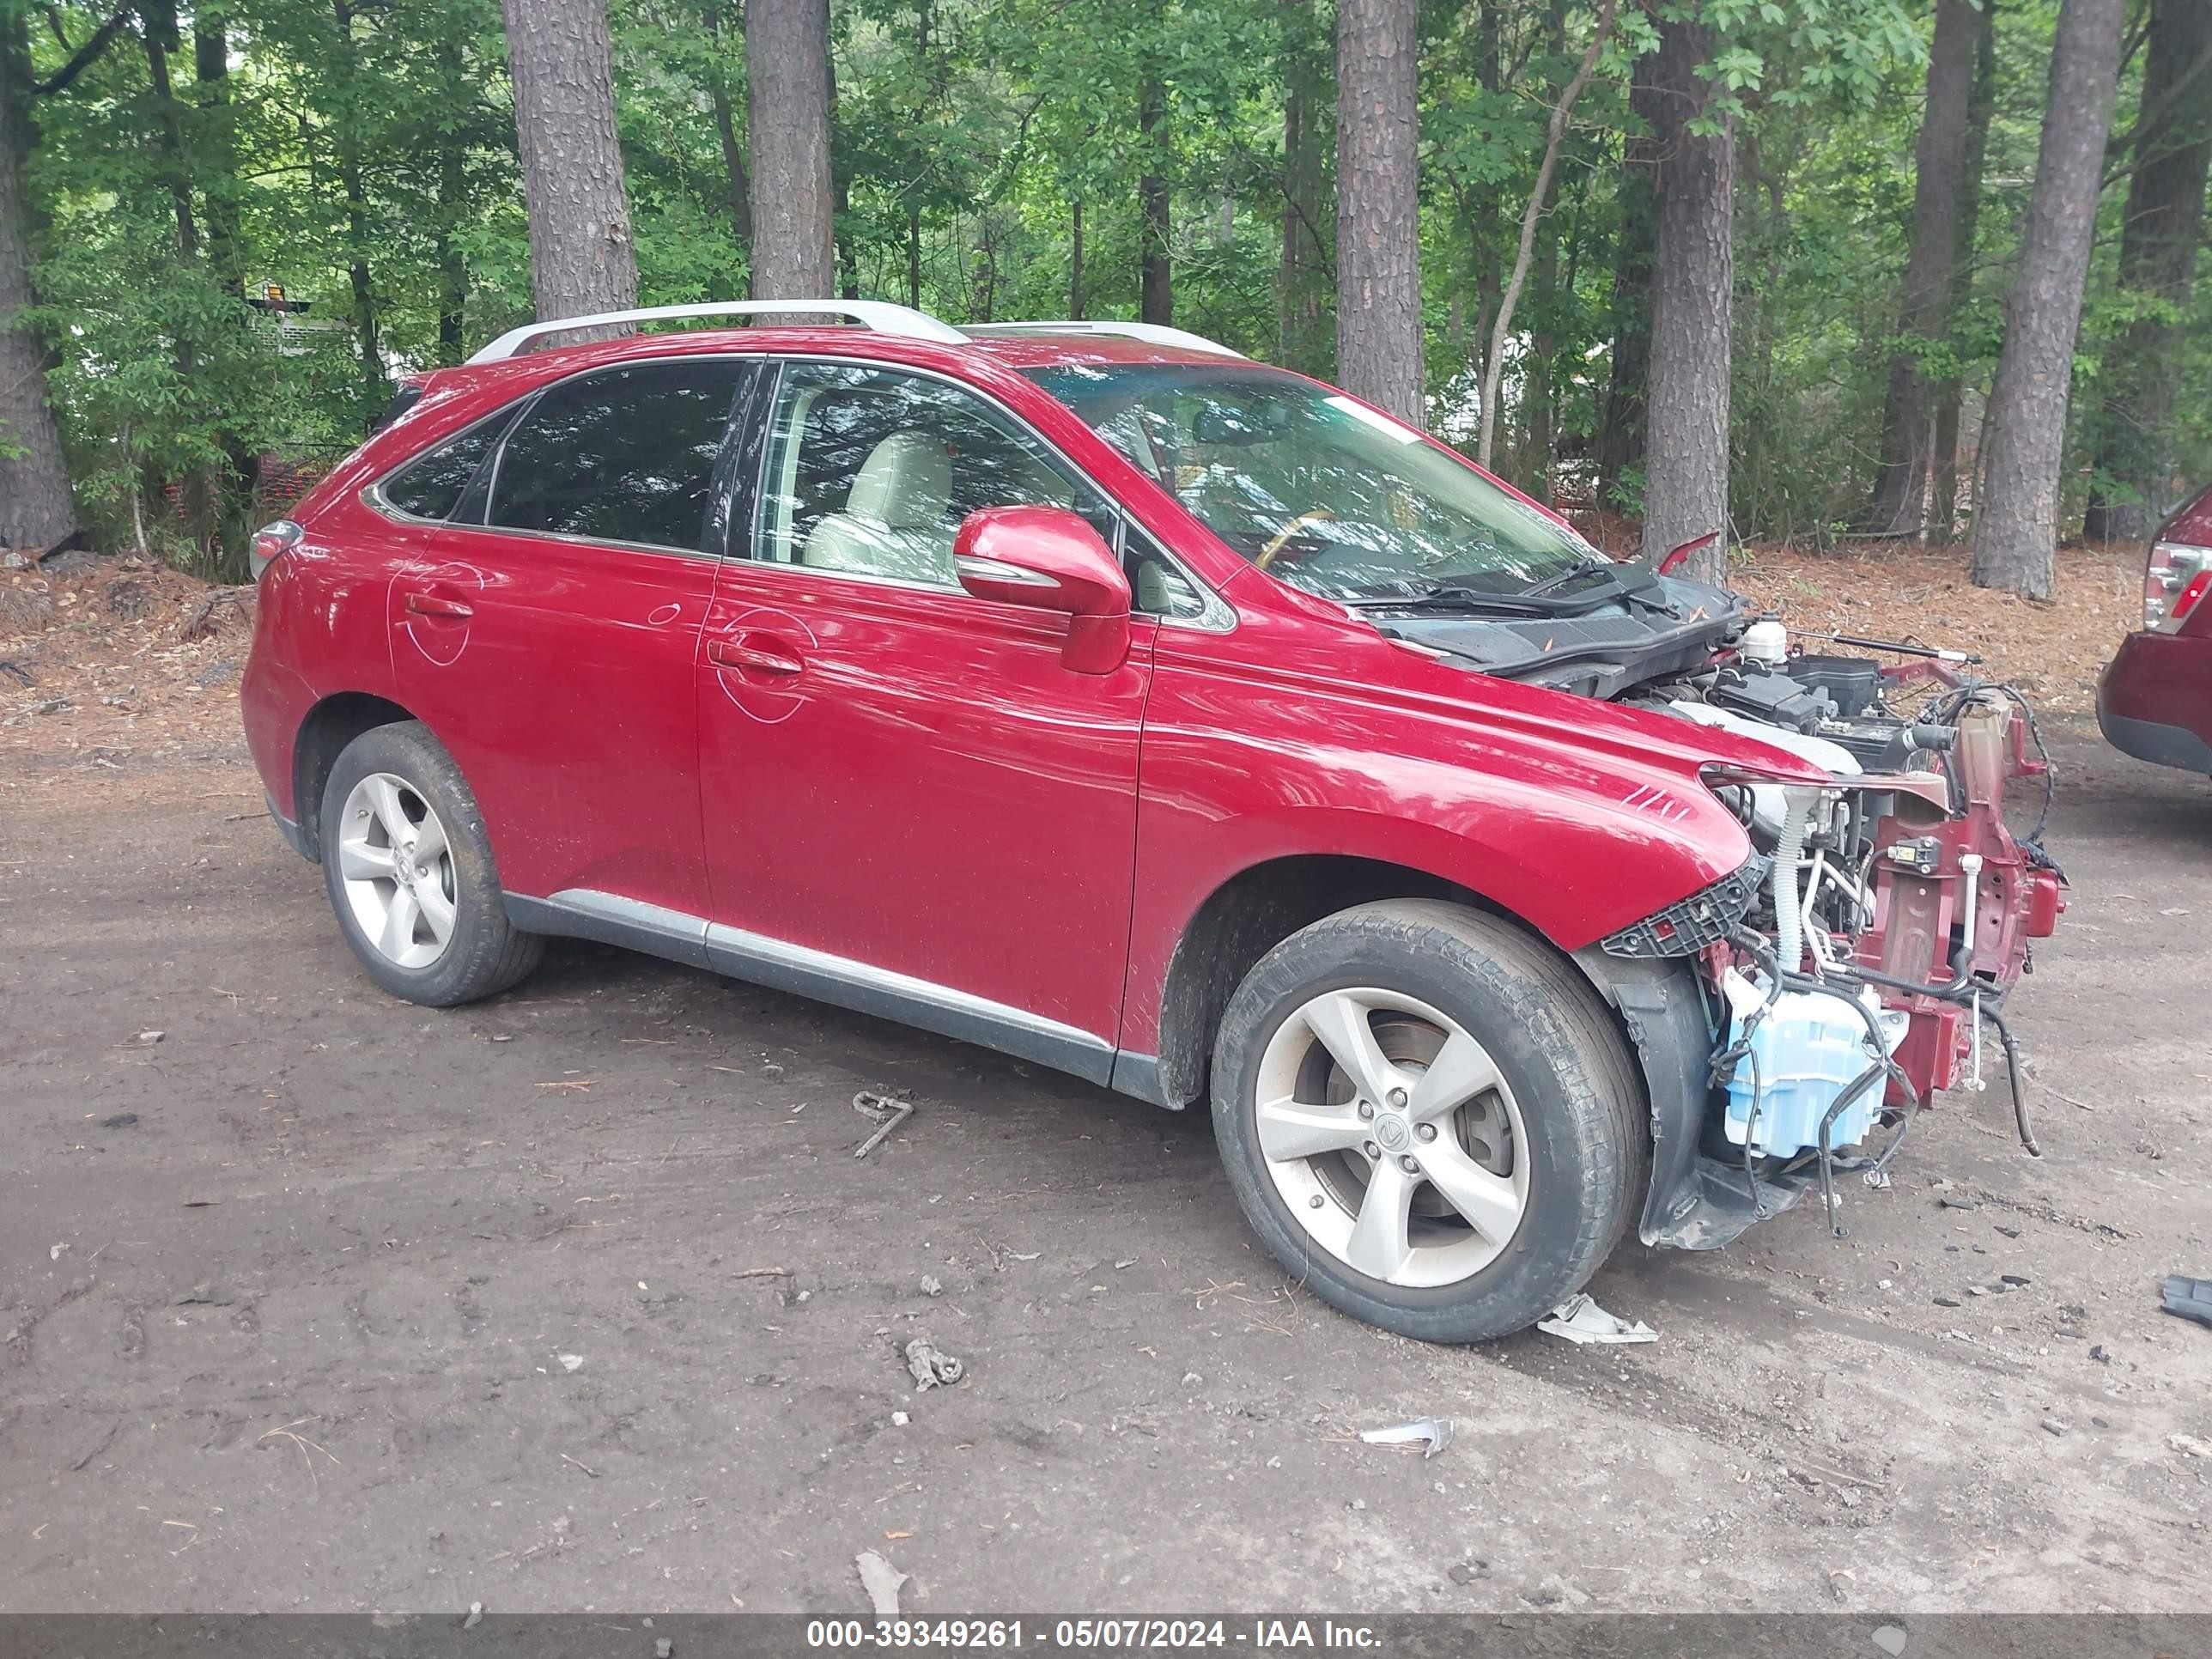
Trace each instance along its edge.
{"label": "mangled bumperless nose of red SUV ahead of its front wheel", "polygon": [[[1929,708],[1955,728],[1955,743],[1933,757],[1940,770],[1770,790],[1765,856],[1575,951],[1646,1075],[1652,1183],[1639,1237],[1648,1245],[1725,1245],[1814,1183],[1840,1237],[1836,1172],[1880,1183],[1918,1108],[1944,1088],[1982,1088],[1984,1029],[2008,1060],[2022,1146],[2039,1155],[2002,1004],[2028,969],[2031,940],[2055,929],[2064,876],[2039,847],[2042,816],[2015,838],[2002,794],[2006,781],[2037,781],[2048,810],[2048,759],[2033,712],[2011,688],[1920,664],[1885,670],[1885,688],[1929,677],[1940,681]],[[1752,774],[1714,772],[1708,783],[1723,796],[1736,787],[1745,818],[1759,816]],[[1723,982],[1734,987],[1734,1011]],[[1747,984],[1759,993],[1745,1013]],[[1849,1073],[1816,1079],[1825,1093],[1814,1115],[1796,1115],[1803,1128],[1761,1146],[1763,1079],[1750,1060],[1745,1086],[1743,1068],[1776,1004],[1801,1015],[1827,1009],[1829,1026],[1863,1026],[1863,1037],[1849,1044],[1858,1055]],[[1750,1099],[1747,1124],[1723,1119],[1723,1091]],[[1765,1099],[1781,1102],[1778,1093]],[[1790,1104],[1803,1108],[1803,1093]],[[1887,1144],[1847,1152],[1871,1139],[1874,1124]]]}

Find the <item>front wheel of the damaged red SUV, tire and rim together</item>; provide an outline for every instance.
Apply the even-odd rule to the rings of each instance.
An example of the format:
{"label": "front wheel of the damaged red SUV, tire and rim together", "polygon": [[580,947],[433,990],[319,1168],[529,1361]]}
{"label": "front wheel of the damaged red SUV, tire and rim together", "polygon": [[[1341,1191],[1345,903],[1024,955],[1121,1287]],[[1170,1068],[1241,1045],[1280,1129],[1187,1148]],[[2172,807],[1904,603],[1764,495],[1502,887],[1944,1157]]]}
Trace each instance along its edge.
{"label": "front wheel of the damaged red SUV, tire and rim together", "polygon": [[1431,1343],[1544,1318],[1650,1179],[1644,1088],[1604,1002],[1513,922],[1438,900],[1276,945],[1214,1042],[1237,1201],[1332,1307]]}

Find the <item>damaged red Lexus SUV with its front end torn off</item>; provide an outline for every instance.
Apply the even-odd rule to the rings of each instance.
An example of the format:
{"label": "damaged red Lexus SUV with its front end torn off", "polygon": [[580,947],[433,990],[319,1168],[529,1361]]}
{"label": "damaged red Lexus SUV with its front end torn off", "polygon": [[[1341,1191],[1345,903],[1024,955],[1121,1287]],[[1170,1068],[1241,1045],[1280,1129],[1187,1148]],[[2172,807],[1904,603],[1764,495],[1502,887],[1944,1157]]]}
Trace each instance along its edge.
{"label": "damaged red Lexus SUV with its front end torn off", "polygon": [[[776,312],[858,327],[522,349]],[[2057,911],[2008,695],[1175,330],[518,330],[257,568],[270,810],[394,995],[582,936],[1210,1102],[1285,1267],[1413,1336],[1887,1164]]]}

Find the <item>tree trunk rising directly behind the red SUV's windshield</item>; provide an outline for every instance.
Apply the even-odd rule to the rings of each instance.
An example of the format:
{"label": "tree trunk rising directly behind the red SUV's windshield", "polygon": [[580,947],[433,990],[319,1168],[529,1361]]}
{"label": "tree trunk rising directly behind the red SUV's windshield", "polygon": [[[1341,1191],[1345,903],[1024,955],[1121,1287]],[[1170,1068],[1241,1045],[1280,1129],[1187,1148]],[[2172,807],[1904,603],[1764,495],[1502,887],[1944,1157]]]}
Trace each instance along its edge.
{"label": "tree trunk rising directly behind the red SUV's windshield", "polygon": [[1420,372],[1418,0],[1336,7],[1336,372],[1416,425]]}

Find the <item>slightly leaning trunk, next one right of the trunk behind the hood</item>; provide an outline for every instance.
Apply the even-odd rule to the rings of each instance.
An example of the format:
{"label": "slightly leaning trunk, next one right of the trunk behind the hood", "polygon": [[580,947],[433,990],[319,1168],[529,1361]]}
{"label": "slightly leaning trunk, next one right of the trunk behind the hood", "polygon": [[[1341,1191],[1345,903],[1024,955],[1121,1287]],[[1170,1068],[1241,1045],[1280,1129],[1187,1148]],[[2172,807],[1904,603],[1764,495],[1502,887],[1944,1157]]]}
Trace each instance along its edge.
{"label": "slightly leaning trunk, next one right of the trunk behind the hood", "polygon": [[1889,356],[1889,396],[1882,400],[1874,509],[1867,515],[1869,531],[1889,535],[1920,535],[1927,500],[1936,396],[1920,363],[1951,323],[1978,18],[1973,0],[1936,0],[1927,106],[1913,148],[1913,239],[1898,305],[1898,347]]}

